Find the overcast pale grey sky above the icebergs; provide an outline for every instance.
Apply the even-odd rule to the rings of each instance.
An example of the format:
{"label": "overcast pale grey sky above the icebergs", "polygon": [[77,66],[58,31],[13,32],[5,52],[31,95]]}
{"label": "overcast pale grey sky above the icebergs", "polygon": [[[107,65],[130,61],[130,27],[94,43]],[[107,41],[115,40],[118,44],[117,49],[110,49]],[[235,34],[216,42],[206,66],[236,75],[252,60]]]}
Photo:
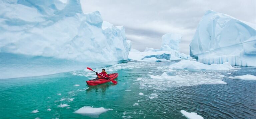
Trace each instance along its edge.
{"label": "overcast pale grey sky above the icebergs", "polygon": [[162,35],[183,35],[180,52],[189,44],[204,12],[214,10],[256,23],[256,0],[81,0],[84,13],[100,11],[103,21],[125,27],[132,48],[159,49]]}

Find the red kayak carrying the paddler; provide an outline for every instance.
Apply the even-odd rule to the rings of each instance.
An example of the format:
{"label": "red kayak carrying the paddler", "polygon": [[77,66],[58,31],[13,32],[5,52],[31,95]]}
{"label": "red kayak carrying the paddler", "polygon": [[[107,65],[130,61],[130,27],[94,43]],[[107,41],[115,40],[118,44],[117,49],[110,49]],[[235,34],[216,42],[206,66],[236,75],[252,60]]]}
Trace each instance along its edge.
{"label": "red kayak carrying the paddler", "polygon": [[111,80],[114,80],[115,78],[117,78],[118,76],[118,73],[111,73],[111,74],[107,74],[109,76],[109,79],[106,79],[106,78],[95,78],[95,79],[92,79],[92,80],[88,80],[86,81],[86,83],[88,85],[99,85],[99,84],[102,84],[102,83],[106,83],[106,82],[109,82]]}

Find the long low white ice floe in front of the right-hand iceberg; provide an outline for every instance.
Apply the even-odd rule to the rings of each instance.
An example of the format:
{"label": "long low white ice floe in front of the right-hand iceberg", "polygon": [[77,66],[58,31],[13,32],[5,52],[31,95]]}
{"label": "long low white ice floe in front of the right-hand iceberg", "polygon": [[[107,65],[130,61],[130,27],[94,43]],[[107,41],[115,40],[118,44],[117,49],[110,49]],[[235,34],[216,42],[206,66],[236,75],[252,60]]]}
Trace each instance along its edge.
{"label": "long low white ice floe in front of the right-hand iceberg", "polygon": [[223,64],[203,64],[193,60],[181,60],[177,63],[171,64],[170,69],[203,69],[203,70],[232,70],[232,67],[228,62]]}

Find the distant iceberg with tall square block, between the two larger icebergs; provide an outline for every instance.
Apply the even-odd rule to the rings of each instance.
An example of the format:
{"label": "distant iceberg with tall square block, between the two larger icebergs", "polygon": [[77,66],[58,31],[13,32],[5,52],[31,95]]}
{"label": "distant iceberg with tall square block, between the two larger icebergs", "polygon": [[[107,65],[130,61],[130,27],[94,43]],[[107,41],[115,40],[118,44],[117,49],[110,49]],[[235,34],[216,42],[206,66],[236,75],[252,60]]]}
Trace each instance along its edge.
{"label": "distant iceberg with tall square block, between the two larger icebergs", "polygon": [[144,52],[132,49],[129,53],[129,59],[137,61],[191,60],[191,57],[179,52],[181,37],[180,34],[167,33],[162,36],[160,49],[146,48]]}

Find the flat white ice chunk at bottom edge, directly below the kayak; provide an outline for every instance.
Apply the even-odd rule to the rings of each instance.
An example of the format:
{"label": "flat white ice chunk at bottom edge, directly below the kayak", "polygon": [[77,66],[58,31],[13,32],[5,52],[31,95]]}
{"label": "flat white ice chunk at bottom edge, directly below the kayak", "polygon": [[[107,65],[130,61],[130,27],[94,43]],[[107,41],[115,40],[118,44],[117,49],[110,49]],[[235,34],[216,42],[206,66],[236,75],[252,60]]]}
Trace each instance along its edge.
{"label": "flat white ice chunk at bottom edge, directly below the kayak", "polygon": [[98,118],[100,114],[107,112],[109,109],[105,109],[103,107],[100,108],[94,108],[90,106],[84,106],[78,110],[76,110],[74,113],[76,114],[81,114],[84,116],[90,116],[90,117],[95,117]]}

